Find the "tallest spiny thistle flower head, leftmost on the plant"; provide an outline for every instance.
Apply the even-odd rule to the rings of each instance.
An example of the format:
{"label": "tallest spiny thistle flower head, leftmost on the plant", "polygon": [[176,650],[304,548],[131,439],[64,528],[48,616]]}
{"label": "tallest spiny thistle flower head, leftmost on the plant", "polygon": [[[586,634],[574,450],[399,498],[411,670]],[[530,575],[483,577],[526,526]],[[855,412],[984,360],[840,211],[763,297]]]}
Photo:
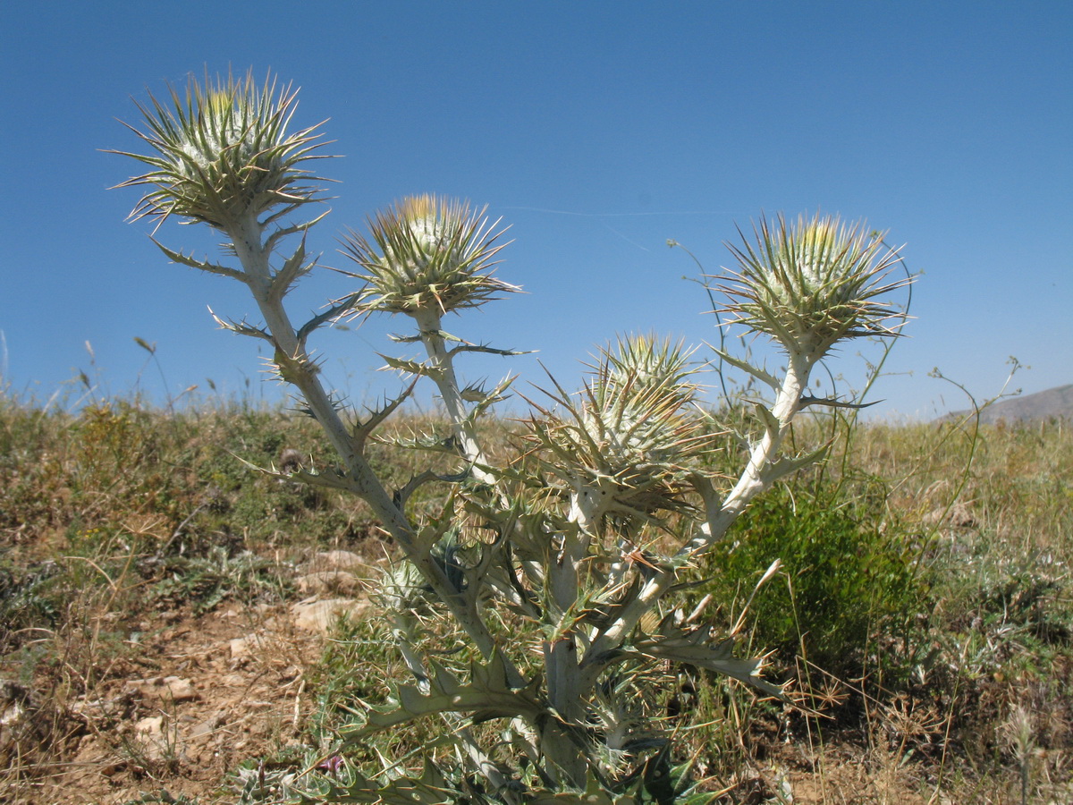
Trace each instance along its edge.
{"label": "tallest spiny thistle flower head, leftmost on the plant", "polygon": [[185,98],[170,91],[171,104],[152,96],[149,106],[138,104],[148,131],[129,127],[152,152],[114,151],[152,169],[119,186],[149,187],[133,218],[174,215],[233,234],[268,210],[273,215],[260,224],[320,200],[324,179],[303,167],[322,158],[313,153],[322,145],[313,142],[320,125],[286,131],[296,90],[277,93],[270,76],[259,88],[250,72],[239,80],[206,75],[201,83],[191,76]]}

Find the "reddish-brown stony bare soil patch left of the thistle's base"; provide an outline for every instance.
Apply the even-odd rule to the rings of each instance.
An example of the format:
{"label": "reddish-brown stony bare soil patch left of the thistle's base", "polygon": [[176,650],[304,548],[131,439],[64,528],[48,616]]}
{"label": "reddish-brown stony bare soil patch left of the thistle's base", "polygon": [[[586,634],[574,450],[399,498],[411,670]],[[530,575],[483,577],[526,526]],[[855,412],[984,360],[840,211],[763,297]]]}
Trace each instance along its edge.
{"label": "reddish-brown stony bare soil patch left of the thistle's base", "polygon": [[0,788],[0,801],[111,805],[160,789],[212,799],[242,761],[297,745],[312,697],[305,670],[324,639],[296,628],[285,604],[164,613],[143,626],[133,650],[101,669],[92,699],[61,708],[35,691],[39,721],[68,716],[54,718],[48,751],[21,759],[36,767]]}

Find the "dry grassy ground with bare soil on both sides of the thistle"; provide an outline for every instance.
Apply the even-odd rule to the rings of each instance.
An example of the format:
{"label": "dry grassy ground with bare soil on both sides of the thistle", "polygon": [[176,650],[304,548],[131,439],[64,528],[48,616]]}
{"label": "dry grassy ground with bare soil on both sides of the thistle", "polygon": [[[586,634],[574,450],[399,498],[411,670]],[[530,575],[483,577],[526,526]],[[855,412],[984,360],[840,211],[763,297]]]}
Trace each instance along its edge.
{"label": "dry grassy ground with bare soil on both sides of the thistle", "polygon": [[[391,547],[359,502],[259,477],[234,457],[268,465],[285,449],[327,454],[312,423],[281,411],[115,400],[73,415],[0,398],[0,800],[269,801],[352,711],[383,696],[384,674],[401,669],[385,671],[387,633],[374,620],[327,643],[288,625],[313,553],[346,548],[376,566]],[[374,449],[395,483],[425,460]],[[682,721],[681,737],[717,801],[1073,800],[1070,479],[1063,423],[975,435],[878,423],[795,481],[797,506],[823,491],[903,546],[920,586],[897,632],[877,619],[846,646],[856,670],[841,678],[809,664],[798,635],[796,658],[771,672],[797,679],[808,709],[678,678],[667,706],[707,722]],[[435,487],[422,494],[436,503]],[[706,614],[737,619],[733,605]],[[263,638],[252,653],[224,649],[249,634]],[[194,678],[197,699],[130,692],[132,678],[167,675]],[[171,750],[135,729],[147,718],[161,719]],[[393,735],[381,749],[405,752],[420,737]]]}

